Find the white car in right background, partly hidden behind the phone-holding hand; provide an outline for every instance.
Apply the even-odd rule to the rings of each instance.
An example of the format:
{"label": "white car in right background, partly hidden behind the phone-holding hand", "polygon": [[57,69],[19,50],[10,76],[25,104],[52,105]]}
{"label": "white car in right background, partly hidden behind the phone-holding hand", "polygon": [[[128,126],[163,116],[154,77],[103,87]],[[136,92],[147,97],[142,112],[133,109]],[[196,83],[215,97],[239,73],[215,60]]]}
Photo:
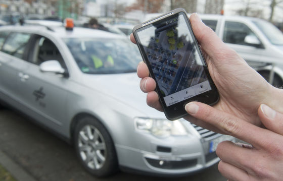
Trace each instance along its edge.
{"label": "white car in right background, partly hidden behind the phone-holding hand", "polygon": [[283,34],[279,29],[251,17],[201,15],[201,19],[270,84],[283,85]]}

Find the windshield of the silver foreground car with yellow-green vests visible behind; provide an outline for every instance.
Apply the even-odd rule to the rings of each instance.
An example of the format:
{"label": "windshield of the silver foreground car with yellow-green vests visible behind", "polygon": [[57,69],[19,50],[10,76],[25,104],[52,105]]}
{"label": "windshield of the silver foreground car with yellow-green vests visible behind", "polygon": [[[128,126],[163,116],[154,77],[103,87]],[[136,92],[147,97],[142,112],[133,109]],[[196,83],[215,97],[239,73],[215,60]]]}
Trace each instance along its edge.
{"label": "windshield of the silver foreground car with yellow-green vests visible behind", "polygon": [[141,61],[137,46],[127,39],[66,38],[64,41],[86,74],[135,72]]}

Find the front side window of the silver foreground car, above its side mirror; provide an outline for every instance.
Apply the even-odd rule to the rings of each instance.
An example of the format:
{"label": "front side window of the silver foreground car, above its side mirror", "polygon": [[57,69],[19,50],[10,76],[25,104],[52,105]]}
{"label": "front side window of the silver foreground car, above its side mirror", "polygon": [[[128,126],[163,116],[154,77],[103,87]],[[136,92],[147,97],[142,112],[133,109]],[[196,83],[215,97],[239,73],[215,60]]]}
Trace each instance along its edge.
{"label": "front side window of the silver foreground car, above its side mirror", "polygon": [[58,61],[63,68],[66,68],[63,57],[57,46],[48,38],[36,35],[35,46],[32,53],[32,63],[40,65],[45,61]]}

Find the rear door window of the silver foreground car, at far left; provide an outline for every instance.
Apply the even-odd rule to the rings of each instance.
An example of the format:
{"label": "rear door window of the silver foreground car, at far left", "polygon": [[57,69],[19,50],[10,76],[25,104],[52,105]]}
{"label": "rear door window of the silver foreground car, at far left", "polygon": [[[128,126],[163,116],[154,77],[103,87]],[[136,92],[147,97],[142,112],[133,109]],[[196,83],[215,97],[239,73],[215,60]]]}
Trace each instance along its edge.
{"label": "rear door window of the silver foreground car, at far left", "polygon": [[29,33],[11,33],[3,45],[2,51],[18,58],[22,58],[30,36],[31,34]]}

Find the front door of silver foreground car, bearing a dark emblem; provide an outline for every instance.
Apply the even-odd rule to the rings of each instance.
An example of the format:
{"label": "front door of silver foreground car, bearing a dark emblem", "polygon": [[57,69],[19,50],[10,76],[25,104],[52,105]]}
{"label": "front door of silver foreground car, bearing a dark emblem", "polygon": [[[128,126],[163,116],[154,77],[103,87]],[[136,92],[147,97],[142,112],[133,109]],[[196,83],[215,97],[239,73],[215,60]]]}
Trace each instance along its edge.
{"label": "front door of silver foreground car, bearing a dark emblem", "polygon": [[21,99],[33,111],[33,117],[46,126],[60,129],[65,117],[68,78],[40,71],[45,61],[59,61],[65,69],[61,52],[49,38],[33,35],[28,55],[28,80],[21,81]]}

